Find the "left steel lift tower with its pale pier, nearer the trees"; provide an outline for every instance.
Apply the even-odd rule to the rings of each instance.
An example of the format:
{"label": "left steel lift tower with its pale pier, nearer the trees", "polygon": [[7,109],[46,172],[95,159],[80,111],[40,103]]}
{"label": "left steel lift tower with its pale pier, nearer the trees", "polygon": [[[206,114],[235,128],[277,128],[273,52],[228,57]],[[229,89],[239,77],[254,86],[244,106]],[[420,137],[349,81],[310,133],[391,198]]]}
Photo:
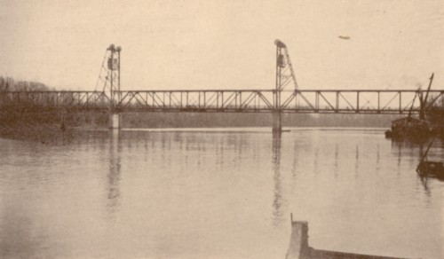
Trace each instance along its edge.
{"label": "left steel lift tower with its pale pier, nearer the trees", "polygon": [[96,90],[99,90],[99,82],[103,83],[102,91],[107,93],[109,98],[109,128],[120,129],[120,114],[115,108],[122,100],[120,91],[120,46],[109,45],[105,51],[102,67],[100,68],[99,79],[96,84]]}

